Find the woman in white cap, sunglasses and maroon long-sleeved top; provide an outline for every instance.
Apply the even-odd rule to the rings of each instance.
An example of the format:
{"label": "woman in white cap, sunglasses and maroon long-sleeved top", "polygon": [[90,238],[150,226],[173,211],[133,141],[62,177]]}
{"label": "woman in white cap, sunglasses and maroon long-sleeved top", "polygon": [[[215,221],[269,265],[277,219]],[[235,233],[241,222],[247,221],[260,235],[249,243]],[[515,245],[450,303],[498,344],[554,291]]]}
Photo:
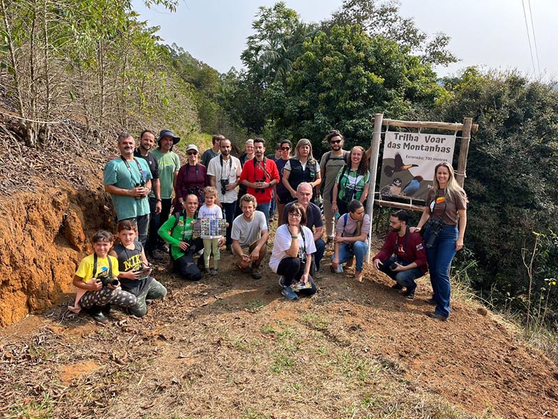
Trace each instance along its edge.
{"label": "woman in white cap, sunglasses and maroon long-sleeved top", "polygon": [[186,196],[193,193],[198,198],[199,205],[204,203],[204,188],[209,186],[209,177],[207,176],[207,168],[199,163],[199,149],[193,144],[186,147],[188,161],[179,170],[176,177],[176,201],[174,203],[174,212],[183,210]]}

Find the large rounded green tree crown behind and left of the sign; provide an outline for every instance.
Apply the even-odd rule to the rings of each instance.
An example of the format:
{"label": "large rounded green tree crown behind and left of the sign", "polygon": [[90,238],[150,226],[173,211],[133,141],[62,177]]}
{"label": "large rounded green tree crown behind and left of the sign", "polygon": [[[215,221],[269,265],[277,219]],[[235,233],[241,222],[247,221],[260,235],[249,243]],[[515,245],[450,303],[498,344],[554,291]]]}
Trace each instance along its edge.
{"label": "large rounded green tree crown behind and left of the sign", "polygon": [[432,104],[439,94],[442,88],[429,66],[400,52],[395,42],[370,38],[353,25],[308,39],[287,89],[274,83],[265,99],[276,126],[294,138],[321,140],[334,126],[352,142],[367,144],[375,112],[413,115],[419,104]]}

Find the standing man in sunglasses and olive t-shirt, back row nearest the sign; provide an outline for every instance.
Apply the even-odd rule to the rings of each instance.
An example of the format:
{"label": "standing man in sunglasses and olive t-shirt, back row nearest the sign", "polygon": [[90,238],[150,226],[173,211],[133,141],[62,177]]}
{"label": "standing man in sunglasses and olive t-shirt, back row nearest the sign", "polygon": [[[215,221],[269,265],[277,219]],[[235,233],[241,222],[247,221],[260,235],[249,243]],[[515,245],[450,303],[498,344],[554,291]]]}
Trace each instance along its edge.
{"label": "standing man in sunglasses and olive t-shirt, back row nearest the sign", "polygon": [[324,205],[324,218],[326,219],[327,242],[331,243],[335,235],[335,219],[331,213],[331,200],[333,199],[331,193],[339,169],[345,166],[347,161],[349,161],[349,152],[343,149],[345,138],[343,138],[339,131],[329,131],[325,140],[331,147],[331,151],[324,153],[322,156],[322,160],[319,162],[319,170],[322,177],[322,184],[324,185],[322,200]]}

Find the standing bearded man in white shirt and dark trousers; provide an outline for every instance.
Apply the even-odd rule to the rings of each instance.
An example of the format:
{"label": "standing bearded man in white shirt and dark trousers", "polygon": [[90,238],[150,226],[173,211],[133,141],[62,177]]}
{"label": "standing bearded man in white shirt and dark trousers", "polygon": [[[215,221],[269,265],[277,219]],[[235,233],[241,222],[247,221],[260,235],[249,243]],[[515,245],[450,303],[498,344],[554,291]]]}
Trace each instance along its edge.
{"label": "standing bearded man in white shirt and dark trousers", "polygon": [[236,208],[236,186],[239,186],[239,178],[242,172],[240,160],[231,156],[231,142],[227,138],[220,141],[221,154],[213,157],[209,161],[207,175],[211,186],[217,189],[217,196],[223,212],[225,220],[229,223],[227,227],[227,240],[225,242],[227,251],[232,254],[232,221],[234,221],[234,210]]}

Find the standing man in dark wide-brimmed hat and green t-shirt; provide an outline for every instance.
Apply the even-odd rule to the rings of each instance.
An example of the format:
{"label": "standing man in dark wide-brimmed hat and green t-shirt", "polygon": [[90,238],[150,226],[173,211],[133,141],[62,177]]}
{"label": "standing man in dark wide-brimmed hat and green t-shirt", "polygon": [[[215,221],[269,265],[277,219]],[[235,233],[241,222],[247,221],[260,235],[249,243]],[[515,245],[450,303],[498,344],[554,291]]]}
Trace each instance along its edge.
{"label": "standing man in dark wide-brimmed hat and green t-shirt", "polygon": [[[146,253],[152,258],[160,257],[160,253],[156,250],[160,249],[165,252],[168,251],[167,244],[158,236],[157,231],[167,219],[169,219],[170,209],[172,206],[172,192],[174,191],[174,184],[176,176],[180,170],[180,159],[178,154],[172,151],[172,147],[180,141],[179,137],[175,137],[174,133],[168,129],[164,129],[159,133],[157,140],[159,147],[151,152],[153,157],[157,160],[159,168],[160,180],[160,200],[161,211],[160,214],[156,213],[151,219],[149,226],[149,240],[146,245]],[[153,203],[157,198],[152,192],[149,199]]]}

